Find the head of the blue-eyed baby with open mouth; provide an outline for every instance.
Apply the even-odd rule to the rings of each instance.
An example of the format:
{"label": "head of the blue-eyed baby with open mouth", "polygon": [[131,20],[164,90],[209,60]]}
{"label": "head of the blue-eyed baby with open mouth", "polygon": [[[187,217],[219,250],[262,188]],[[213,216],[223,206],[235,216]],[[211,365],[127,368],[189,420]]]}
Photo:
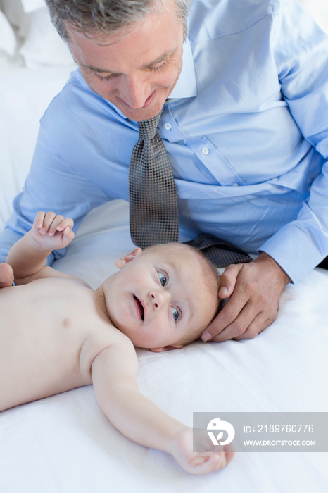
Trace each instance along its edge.
{"label": "head of the blue-eyed baby with open mouth", "polygon": [[108,315],[134,346],[164,351],[201,336],[219,309],[217,270],[181,243],[134,249],[103,283]]}

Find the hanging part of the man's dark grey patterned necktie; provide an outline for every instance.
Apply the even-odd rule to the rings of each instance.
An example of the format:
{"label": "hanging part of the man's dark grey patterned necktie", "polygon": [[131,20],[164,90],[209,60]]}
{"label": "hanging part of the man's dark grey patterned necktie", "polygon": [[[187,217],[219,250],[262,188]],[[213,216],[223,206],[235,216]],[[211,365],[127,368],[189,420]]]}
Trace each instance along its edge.
{"label": "hanging part of the man's dark grey patterned necktie", "polygon": [[129,170],[130,232],[141,248],[179,240],[177,194],[171,163],[156,133],[158,115],[138,122],[139,141]]}

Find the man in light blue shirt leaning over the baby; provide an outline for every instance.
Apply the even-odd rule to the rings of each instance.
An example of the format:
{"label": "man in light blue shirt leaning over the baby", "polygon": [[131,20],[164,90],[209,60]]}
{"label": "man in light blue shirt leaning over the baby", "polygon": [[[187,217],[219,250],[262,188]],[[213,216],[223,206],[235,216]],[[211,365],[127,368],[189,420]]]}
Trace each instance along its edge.
{"label": "man in light blue shirt leaning over the baby", "polygon": [[187,0],[46,4],[79,70],[42,119],[5,249],[39,208],[78,226],[128,200],[137,121],[164,105],[180,241],[203,231],[259,254],[226,268],[203,339],[254,337],[328,254],[327,36],[296,0],[194,0],[187,38]]}

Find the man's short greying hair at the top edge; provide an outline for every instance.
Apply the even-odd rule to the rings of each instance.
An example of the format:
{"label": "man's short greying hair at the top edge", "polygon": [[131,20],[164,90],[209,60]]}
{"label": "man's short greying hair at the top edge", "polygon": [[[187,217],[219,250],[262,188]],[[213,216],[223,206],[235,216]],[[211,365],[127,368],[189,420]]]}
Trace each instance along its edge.
{"label": "man's short greying hair at the top edge", "polygon": [[[68,42],[65,23],[77,32],[112,35],[143,20],[154,11],[161,11],[165,0],[45,0],[51,21],[59,35]],[[187,15],[191,0],[174,0],[177,17],[187,35]]]}

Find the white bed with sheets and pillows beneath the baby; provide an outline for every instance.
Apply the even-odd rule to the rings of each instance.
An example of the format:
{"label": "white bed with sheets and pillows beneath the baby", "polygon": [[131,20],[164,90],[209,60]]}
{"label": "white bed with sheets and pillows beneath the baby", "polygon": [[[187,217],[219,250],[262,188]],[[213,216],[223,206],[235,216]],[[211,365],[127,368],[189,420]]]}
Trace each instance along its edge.
{"label": "white bed with sheets and pillows beneath the baby", "polygon": [[[303,3],[327,28],[324,2]],[[42,1],[0,6],[1,230],[27,175],[39,118],[74,65]],[[89,213],[54,266],[96,288],[130,249],[127,203],[113,201]],[[328,271],[316,268],[284,289],[277,319],[253,340],[137,349],[141,392],[188,425],[196,411],[328,411],[327,294]],[[191,476],[167,454],[120,435],[89,386],[0,413],[0,492],[324,493],[327,451],[238,452],[225,470]]]}

